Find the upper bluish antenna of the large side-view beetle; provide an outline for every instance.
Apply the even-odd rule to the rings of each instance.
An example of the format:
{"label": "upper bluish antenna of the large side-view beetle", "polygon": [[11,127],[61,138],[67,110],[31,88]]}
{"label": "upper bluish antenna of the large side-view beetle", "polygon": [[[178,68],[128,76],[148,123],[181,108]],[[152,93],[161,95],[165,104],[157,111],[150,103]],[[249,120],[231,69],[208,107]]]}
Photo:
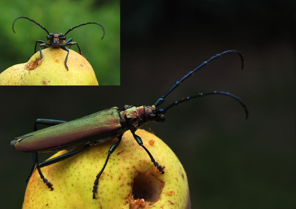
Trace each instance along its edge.
{"label": "upper bluish antenna of the large side-view beetle", "polygon": [[203,62],[200,66],[198,66],[197,68],[195,68],[193,71],[190,71],[187,75],[185,75],[180,81],[177,81],[172,87],[170,87],[170,89],[165,93],[165,95],[163,95],[161,98],[159,98],[156,102],[155,102],[155,107],[161,105],[164,102],[164,98],[166,96],[168,96],[168,94],[170,92],[172,92],[175,88],[177,88],[181,82],[183,82],[186,78],[188,78],[190,75],[193,75],[193,73],[195,73],[197,70],[199,70],[200,68],[202,68],[203,66],[207,65],[207,63],[211,62],[212,60],[215,60],[218,57],[221,57],[224,54],[229,54],[229,53],[237,53],[239,54],[239,56],[241,57],[241,61],[242,61],[242,69],[244,68],[244,58],[242,57],[242,54],[237,51],[237,50],[228,50],[225,52],[222,52],[221,54],[217,54],[216,56],[212,57],[210,60]]}

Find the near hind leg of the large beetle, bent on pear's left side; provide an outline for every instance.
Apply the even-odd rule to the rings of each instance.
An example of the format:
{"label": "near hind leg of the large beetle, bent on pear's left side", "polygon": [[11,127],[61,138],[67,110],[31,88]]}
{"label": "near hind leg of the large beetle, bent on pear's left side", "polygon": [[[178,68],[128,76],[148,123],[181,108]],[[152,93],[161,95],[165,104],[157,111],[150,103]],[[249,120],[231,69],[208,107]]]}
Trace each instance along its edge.
{"label": "near hind leg of the large beetle, bent on pear's left side", "polygon": [[37,170],[39,172],[40,178],[43,180],[43,182],[46,184],[46,186],[48,186],[49,189],[54,190],[54,188],[52,187],[52,184],[46,178],[44,178],[44,176],[43,176],[40,168],[45,167],[47,165],[51,165],[51,164],[57,163],[57,162],[62,161],[62,160],[65,160],[68,157],[72,157],[73,155],[76,155],[79,152],[82,152],[84,149],[86,149],[88,147],[90,147],[90,145],[89,144],[86,144],[86,145],[84,145],[84,147],[82,149],[78,149],[76,151],[69,152],[69,153],[66,153],[66,154],[61,155],[61,156],[58,156],[58,157],[54,157],[54,158],[52,158],[50,160],[46,160],[43,163],[39,163],[37,165]]}

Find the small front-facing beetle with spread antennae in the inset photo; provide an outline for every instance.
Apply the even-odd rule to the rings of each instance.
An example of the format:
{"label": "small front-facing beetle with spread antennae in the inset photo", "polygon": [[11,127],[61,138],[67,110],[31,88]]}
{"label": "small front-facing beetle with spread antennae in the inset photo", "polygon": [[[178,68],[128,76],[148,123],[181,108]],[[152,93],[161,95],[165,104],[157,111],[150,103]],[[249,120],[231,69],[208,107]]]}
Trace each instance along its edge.
{"label": "small front-facing beetle with spread antennae in the inset photo", "polygon": [[[32,21],[32,22],[35,22],[34,20],[32,20],[32,19],[30,19],[30,18],[28,18],[28,17],[18,17],[17,19],[20,19],[20,18],[25,18],[25,19],[28,19],[28,20],[30,20],[30,21]],[[17,21],[17,19],[15,19],[15,21]],[[14,26],[14,24],[15,24],[15,21],[14,21],[13,24],[12,24],[12,30],[13,30],[14,33],[15,33],[15,30],[14,30],[13,26]],[[66,35],[67,35],[67,33],[69,33],[69,32],[70,32],[71,30],[73,30],[74,28],[78,28],[79,26],[87,25],[87,24],[97,24],[97,25],[99,25],[99,26],[101,26],[101,27],[103,28],[103,26],[102,26],[101,24],[97,23],[97,22],[87,22],[87,23],[83,23],[83,24],[81,24],[81,25],[77,25],[77,26],[75,26],[74,28],[70,28],[70,30],[68,30],[67,33],[65,33],[65,34],[63,34],[63,33],[49,33],[49,32],[46,30],[46,28],[44,28],[44,27],[43,27],[42,25],[40,25],[38,22],[35,22],[35,23],[36,23],[36,25],[39,25],[42,29],[44,29],[44,30],[46,31],[46,33],[48,34],[48,36],[46,37],[46,38],[47,38],[47,42],[48,42],[48,44],[46,44],[46,42],[41,41],[41,40],[37,40],[37,41],[36,41],[34,54],[36,53],[37,42],[38,42],[38,43],[41,43],[41,44],[39,45],[40,59],[37,61],[37,65],[38,65],[38,62],[43,58],[43,56],[42,56],[42,52],[41,52],[41,46],[43,46],[43,47],[55,47],[55,46],[59,46],[61,49],[63,49],[63,50],[65,50],[66,52],[68,52],[68,54],[67,54],[67,56],[66,56],[66,59],[65,59],[65,67],[66,67],[67,71],[69,70],[69,68],[68,68],[68,66],[67,66],[67,60],[68,60],[68,55],[69,55],[69,49],[68,49],[66,46],[70,46],[69,48],[71,48],[72,45],[77,44],[76,42],[72,41],[73,38],[70,38],[68,41],[66,41]],[[102,40],[102,39],[104,38],[104,36],[105,36],[105,29],[104,29],[104,28],[103,28],[103,32],[104,32],[104,34],[103,34],[103,37],[101,38],[101,40]],[[79,54],[80,54],[81,56],[83,56],[83,55],[82,55],[82,52],[81,52],[81,50],[80,50],[80,48],[79,48],[79,46],[78,46],[78,44],[77,44],[77,47],[78,47],[78,50],[79,50]],[[32,54],[32,56],[33,56],[34,54]],[[32,56],[31,56],[31,57],[32,57]],[[31,57],[29,57],[29,59],[30,59]],[[84,56],[83,56],[83,57],[84,57]],[[85,58],[85,57],[84,57],[84,58]],[[85,59],[86,59],[86,58],[85,58]],[[86,59],[86,60],[87,60],[87,59]]]}

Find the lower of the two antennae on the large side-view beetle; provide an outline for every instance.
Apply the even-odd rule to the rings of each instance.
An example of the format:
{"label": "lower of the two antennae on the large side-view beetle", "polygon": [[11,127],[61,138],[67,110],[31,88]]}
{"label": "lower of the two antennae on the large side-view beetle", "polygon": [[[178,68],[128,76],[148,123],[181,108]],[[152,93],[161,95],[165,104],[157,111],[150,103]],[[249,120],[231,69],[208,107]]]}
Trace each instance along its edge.
{"label": "lower of the two antennae on the large side-view beetle", "polygon": [[166,107],[163,110],[163,113],[165,113],[168,109],[170,109],[172,107],[175,107],[175,106],[177,106],[177,105],[179,105],[179,104],[181,104],[183,102],[190,101],[190,99],[195,99],[195,98],[198,98],[198,97],[203,97],[203,96],[207,96],[207,95],[211,95],[211,94],[221,94],[221,95],[224,95],[224,96],[232,97],[232,98],[236,99],[237,101],[239,101],[239,103],[241,103],[241,105],[244,107],[244,111],[246,112],[246,120],[247,120],[249,113],[248,113],[246,105],[242,102],[242,100],[239,97],[237,97],[237,96],[235,96],[233,94],[229,94],[228,92],[223,92],[223,91],[213,91],[213,92],[209,92],[209,93],[205,93],[205,94],[200,93],[200,94],[194,95],[192,97],[183,98],[180,101],[174,102],[173,104]]}

